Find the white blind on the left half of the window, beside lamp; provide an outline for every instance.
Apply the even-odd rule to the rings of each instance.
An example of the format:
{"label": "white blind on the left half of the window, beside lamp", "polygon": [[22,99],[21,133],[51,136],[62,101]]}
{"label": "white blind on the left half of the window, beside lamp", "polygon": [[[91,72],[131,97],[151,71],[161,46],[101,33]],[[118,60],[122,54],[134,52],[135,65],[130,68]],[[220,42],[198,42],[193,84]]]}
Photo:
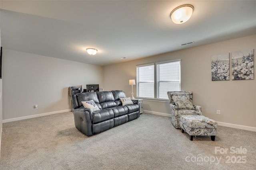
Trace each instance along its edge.
{"label": "white blind on the left half of the window, beside lamp", "polygon": [[154,64],[137,66],[137,98],[154,98]]}

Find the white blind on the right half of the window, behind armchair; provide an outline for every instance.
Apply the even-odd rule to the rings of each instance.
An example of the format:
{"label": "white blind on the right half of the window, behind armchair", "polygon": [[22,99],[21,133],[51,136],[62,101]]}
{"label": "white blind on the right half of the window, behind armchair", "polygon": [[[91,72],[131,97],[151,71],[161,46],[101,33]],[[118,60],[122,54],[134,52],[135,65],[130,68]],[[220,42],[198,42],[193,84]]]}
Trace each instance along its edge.
{"label": "white blind on the right half of the window, behind armchair", "polygon": [[180,91],[180,61],[156,63],[156,95],[168,99],[168,91]]}

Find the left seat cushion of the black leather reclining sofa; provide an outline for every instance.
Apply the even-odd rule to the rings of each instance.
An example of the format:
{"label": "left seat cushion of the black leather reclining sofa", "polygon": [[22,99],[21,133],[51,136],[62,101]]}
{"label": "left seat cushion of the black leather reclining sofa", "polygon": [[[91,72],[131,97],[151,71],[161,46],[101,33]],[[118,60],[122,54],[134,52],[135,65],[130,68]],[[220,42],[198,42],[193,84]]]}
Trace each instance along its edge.
{"label": "left seat cushion of the black leather reclining sofa", "polygon": [[100,123],[114,118],[114,112],[112,109],[106,108],[99,111],[92,112],[92,123]]}

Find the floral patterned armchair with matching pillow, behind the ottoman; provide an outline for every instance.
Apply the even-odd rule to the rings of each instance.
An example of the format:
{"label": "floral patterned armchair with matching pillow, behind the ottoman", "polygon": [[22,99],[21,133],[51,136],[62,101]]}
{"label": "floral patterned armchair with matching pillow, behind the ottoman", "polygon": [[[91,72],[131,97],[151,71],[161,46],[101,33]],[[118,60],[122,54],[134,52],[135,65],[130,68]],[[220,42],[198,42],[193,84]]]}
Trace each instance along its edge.
{"label": "floral patterned armchair with matching pillow, behind the ottoman", "polygon": [[172,124],[180,129],[181,115],[202,115],[202,107],[193,105],[193,94],[190,91],[167,92],[170,101]]}

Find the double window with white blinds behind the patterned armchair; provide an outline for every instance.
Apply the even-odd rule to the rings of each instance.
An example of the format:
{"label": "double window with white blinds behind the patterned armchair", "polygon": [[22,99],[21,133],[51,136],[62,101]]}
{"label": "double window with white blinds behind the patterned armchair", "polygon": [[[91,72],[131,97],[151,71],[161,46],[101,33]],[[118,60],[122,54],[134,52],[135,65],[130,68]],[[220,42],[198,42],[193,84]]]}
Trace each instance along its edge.
{"label": "double window with white blinds behind the patterned armchair", "polygon": [[168,99],[168,91],[180,91],[180,59],[136,67],[137,98]]}

